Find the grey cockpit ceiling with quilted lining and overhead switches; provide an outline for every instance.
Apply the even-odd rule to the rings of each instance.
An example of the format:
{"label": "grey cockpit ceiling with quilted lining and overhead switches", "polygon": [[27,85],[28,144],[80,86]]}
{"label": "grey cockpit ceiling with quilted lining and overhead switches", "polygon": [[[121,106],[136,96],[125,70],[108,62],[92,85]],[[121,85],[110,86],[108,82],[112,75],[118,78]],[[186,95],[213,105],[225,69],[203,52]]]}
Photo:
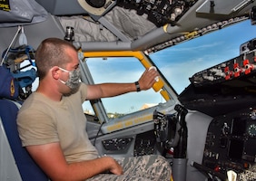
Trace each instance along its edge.
{"label": "grey cockpit ceiling with quilted lining and overhead switches", "polygon": [[[49,11],[48,1],[37,0]],[[64,5],[66,1],[62,1]],[[69,1],[70,2],[70,1]],[[87,51],[157,52],[227,25],[249,19],[254,0],[78,0],[84,14],[54,8],[64,29]],[[56,4],[59,5],[59,4]],[[48,9],[47,9],[48,8]],[[101,43],[98,46],[98,43]]]}

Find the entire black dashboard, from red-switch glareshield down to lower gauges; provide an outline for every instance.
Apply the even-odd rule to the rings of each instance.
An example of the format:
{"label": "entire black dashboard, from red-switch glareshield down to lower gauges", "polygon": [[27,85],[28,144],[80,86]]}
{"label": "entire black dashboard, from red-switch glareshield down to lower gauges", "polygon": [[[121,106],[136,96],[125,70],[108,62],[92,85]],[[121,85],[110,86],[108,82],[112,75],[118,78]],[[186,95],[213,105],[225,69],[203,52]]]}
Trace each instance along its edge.
{"label": "entire black dashboard, from red-switch glareshield down to lower gauges", "polygon": [[216,176],[229,170],[242,175],[256,163],[255,44],[255,39],[243,43],[239,56],[195,73],[179,98],[213,118],[202,167]]}

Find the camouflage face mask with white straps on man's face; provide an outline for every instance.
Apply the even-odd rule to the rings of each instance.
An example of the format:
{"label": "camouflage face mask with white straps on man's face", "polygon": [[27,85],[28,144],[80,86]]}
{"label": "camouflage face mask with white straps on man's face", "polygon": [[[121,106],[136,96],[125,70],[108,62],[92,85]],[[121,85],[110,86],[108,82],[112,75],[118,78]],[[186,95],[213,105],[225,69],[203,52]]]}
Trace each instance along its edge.
{"label": "camouflage face mask with white straps on man's face", "polygon": [[79,88],[79,85],[81,83],[80,81],[80,69],[77,68],[74,71],[67,71],[61,67],[59,67],[60,70],[68,72],[69,73],[69,77],[67,81],[62,81],[60,80],[62,83],[64,83],[67,87],[69,87],[72,91],[77,90]]}

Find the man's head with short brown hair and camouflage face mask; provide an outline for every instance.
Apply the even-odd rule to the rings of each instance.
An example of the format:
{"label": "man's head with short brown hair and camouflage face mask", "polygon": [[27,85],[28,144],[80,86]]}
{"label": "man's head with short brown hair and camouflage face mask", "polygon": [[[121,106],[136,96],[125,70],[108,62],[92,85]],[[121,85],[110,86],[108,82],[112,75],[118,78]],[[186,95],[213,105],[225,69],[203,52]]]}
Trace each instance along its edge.
{"label": "man's head with short brown hair and camouflage face mask", "polygon": [[79,60],[73,44],[58,38],[45,39],[35,52],[35,63],[44,85],[51,83],[55,90],[67,95],[78,89]]}

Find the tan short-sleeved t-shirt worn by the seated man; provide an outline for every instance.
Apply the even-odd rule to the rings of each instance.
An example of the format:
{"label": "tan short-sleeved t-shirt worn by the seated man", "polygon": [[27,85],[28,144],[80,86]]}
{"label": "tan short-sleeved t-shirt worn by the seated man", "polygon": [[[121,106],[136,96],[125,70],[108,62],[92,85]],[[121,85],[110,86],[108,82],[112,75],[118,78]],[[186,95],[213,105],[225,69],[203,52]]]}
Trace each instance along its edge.
{"label": "tan short-sleeved t-shirt worn by the seated man", "polygon": [[85,131],[86,118],[82,108],[87,86],[61,101],[34,92],[25,100],[17,117],[23,146],[59,142],[68,163],[98,157]]}

